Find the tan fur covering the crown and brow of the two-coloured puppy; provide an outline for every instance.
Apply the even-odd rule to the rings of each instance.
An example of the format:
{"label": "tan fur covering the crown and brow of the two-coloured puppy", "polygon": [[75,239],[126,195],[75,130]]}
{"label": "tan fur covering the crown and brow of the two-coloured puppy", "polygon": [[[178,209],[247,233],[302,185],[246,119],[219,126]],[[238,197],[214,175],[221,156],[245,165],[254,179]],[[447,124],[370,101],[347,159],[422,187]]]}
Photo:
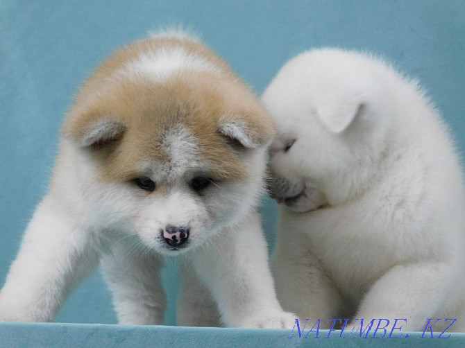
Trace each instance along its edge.
{"label": "tan fur covering the crown and brow of the two-coloured puppy", "polygon": [[[224,73],[183,70],[162,82],[150,76],[117,75],[141,53],[167,46],[180,46]],[[219,125],[243,120],[248,134],[260,145],[268,143],[275,131],[255,95],[226,62],[201,44],[175,38],[142,40],[105,61],[81,89],[63,134],[79,141],[102,120],[121,124],[123,131],[121,139],[103,144],[104,148],[90,148],[99,157],[102,178],[111,181],[140,176],[144,162],[169,162],[163,141],[176,128],[186,128],[194,136],[201,161],[212,167],[212,177],[239,180],[247,175],[247,150],[232,148],[220,134]]]}

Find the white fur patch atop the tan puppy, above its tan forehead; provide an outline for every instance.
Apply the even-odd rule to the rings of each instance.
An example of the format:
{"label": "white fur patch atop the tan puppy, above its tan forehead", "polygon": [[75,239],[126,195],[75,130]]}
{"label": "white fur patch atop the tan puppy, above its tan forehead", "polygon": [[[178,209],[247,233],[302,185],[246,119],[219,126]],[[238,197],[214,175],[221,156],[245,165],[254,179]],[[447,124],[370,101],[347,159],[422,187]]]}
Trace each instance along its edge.
{"label": "white fur patch atop the tan puppy, above its tan forehead", "polygon": [[219,67],[208,62],[205,58],[176,47],[142,53],[139,57],[126,64],[124,73],[143,74],[156,80],[163,80],[177,71],[186,69],[211,71],[213,73],[221,72]]}

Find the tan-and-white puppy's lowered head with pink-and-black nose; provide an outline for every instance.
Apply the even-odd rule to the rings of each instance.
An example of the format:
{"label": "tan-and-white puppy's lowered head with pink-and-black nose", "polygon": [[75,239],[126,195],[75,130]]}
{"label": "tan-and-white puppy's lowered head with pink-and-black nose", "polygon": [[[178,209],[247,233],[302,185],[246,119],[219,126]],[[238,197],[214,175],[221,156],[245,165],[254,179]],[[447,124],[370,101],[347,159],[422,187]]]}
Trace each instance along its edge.
{"label": "tan-and-white puppy's lowered head with pink-and-black nose", "polygon": [[136,49],[128,60],[126,49],[103,64],[63,133],[90,167],[81,181],[97,219],[177,254],[255,207],[274,125],[204,46],[185,37],[144,44],[143,56]]}

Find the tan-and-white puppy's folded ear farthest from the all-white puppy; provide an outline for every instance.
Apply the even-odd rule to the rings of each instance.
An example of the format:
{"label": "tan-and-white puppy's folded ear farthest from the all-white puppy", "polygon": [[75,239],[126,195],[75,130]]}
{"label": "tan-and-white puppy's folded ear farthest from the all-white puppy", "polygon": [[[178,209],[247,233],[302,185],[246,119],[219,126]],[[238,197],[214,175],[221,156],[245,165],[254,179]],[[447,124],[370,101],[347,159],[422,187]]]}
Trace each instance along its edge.
{"label": "tan-and-white puppy's folded ear farthest from the all-white puppy", "polygon": [[126,126],[112,116],[98,114],[70,114],[63,126],[63,136],[78,146],[103,148],[121,139]]}

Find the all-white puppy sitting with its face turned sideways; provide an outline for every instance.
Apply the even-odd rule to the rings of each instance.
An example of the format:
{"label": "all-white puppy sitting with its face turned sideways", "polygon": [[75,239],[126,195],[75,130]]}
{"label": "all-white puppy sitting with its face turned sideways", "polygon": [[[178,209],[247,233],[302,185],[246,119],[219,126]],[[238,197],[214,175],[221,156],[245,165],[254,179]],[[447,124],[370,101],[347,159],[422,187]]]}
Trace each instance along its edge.
{"label": "all-white puppy sitting with its face turned sideways", "polygon": [[465,329],[464,181],[423,90],[381,60],[320,49],[285,64],[262,100],[279,130],[282,306],[321,322]]}

